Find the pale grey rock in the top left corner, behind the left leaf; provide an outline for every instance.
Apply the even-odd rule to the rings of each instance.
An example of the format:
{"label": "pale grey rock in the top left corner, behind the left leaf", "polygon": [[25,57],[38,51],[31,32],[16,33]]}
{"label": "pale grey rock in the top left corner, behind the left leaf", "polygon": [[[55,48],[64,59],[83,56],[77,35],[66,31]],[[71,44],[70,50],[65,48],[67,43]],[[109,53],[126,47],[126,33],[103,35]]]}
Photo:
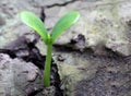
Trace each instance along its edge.
{"label": "pale grey rock in the top left corner, behind the left leaf", "polygon": [[[0,48],[3,48],[11,41],[17,39],[20,36],[32,33],[31,28],[27,27],[25,24],[23,24],[20,21],[19,12],[23,10],[29,10],[34,13],[40,15],[40,7],[34,7],[32,0],[26,1],[17,1],[14,0],[13,2],[11,0],[4,0],[0,3],[0,13],[5,20],[4,26],[0,27]],[[37,4],[37,3],[36,3]]]}

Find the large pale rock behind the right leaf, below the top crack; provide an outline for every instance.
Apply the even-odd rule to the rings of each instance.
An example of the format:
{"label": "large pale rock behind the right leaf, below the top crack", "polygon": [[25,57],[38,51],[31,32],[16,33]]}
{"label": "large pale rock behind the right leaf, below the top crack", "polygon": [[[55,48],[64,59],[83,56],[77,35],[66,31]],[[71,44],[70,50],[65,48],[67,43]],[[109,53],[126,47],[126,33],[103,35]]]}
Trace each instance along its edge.
{"label": "large pale rock behind the right leaf, below the top crack", "polygon": [[[128,36],[130,28],[127,24],[127,21],[130,20],[130,12],[127,12],[127,9],[130,9],[129,3],[131,2],[127,0],[123,2],[119,0],[76,1],[61,9],[47,9],[47,13],[55,12],[58,16],[51,16],[51,14],[48,13],[50,19],[46,20],[46,24],[52,27],[53,22],[56,22],[58,17],[70,10],[78,10],[81,13],[79,22],[60,36],[56,45],[68,45],[71,43],[71,39],[82,34],[85,37],[85,48],[97,50],[97,46],[103,45],[103,47],[109,48],[122,56],[130,56],[131,51],[129,49],[131,44]],[[55,21],[52,22],[51,20]],[[124,43],[124,45],[118,43]],[[109,45],[116,45],[117,50]]]}

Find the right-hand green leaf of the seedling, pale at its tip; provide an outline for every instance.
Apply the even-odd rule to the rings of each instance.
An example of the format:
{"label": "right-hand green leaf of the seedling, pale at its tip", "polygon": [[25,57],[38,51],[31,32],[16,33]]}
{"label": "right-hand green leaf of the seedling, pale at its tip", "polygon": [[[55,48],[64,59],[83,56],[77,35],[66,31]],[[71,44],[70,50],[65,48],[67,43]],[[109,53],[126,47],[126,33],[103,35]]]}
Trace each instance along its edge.
{"label": "right-hand green leaf of the seedling, pale at its tip", "polygon": [[62,16],[55,25],[51,32],[51,43],[53,43],[59,35],[73,25],[80,17],[80,13],[72,11]]}

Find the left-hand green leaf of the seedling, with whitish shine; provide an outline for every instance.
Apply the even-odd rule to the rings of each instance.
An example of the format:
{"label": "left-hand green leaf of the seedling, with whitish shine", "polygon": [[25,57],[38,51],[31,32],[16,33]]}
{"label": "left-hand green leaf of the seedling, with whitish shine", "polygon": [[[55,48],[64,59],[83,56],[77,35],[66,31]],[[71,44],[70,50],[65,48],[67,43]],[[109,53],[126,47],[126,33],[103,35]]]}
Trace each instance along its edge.
{"label": "left-hand green leaf of the seedling, with whitish shine", "polygon": [[34,13],[28,11],[23,11],[20,13],[20,17],[23,23],[32,27],[34,31],[37,32],[38,35],[44,39],[45,43],[47,43],[47,29],[44,25],[44,23],[40,21],[38,16],[36,16]]}

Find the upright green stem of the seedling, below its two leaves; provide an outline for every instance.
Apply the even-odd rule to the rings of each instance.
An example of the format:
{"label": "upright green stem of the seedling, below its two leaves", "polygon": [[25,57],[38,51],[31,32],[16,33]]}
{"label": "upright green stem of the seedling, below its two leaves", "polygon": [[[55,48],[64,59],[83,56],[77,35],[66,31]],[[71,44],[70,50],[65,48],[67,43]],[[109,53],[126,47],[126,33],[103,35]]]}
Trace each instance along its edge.
{"label": "upright green stem of the seedling, below its two leaves", "polygon": [[51,67],[51,52],[52,52],[52,45],[47,45],[47,56],[46,56],[46,63],[44,70],[44,86],[50,86],[50,67]]}

